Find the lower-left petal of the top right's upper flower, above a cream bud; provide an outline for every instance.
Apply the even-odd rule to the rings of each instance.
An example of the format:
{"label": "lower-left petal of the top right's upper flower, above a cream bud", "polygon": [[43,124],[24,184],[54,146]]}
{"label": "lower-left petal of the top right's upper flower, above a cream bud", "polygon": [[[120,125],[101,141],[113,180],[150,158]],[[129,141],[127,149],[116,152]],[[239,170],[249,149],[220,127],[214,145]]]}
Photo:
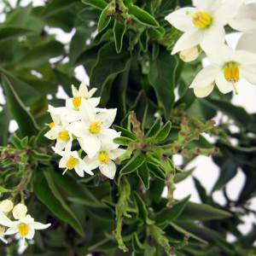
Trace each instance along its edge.
{"label": "lower-left petal of the top right's upper flower, above a cream bud", "polygon": [[172,49],[172,55],[183,49],[192,48],[201,43],[203,33],[200,30],[193,30],[191,32],[184,32],[183,35],[178,38],[176,44]]}

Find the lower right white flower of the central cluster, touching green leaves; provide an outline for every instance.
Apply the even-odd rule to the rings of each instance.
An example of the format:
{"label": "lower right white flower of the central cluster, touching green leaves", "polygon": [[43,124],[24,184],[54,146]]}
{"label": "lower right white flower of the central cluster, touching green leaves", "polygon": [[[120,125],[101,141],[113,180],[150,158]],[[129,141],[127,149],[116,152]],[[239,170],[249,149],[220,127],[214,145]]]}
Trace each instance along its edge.
{"label": "lower right white flower of the central cluster, touching green leaves", "polygon": [[109,145],[107,147],[103,146],[92,159],[86,155],[84,157],[84,163],[90,170],[99,167],[104,176],[113,179],[116,172],[116,166],[113,160],[118,158],[121,154],[124,154],[125,149],[118,148],[118,145],[112,148],[108,147]]}

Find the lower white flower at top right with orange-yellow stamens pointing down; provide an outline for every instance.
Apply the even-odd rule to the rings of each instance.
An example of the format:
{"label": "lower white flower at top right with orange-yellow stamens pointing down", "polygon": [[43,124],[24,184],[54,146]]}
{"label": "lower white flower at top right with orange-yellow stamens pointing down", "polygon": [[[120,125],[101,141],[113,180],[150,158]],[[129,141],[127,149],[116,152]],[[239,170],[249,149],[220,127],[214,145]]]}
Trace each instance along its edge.
{"label": "lower white flower at top right with orange-yellow stamens pointing down", "polygon": [[[233,50],[227,45],[207,53],[211,65],[203,68],[190,85],[196,96],[208,96],[214,83],[222,93],[236,91],[241,78],[256,84],[256,55],[245,50]],[[237,92],[237,91],[236,91]]]}

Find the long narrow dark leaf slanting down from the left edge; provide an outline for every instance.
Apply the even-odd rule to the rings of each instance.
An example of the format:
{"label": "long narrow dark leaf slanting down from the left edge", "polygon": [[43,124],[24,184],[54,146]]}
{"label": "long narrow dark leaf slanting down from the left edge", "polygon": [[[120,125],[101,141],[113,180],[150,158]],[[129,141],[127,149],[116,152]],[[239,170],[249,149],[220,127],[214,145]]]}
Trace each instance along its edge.
{"label": "long narrow dark leaf slanting down from the left edge", "polygon": [[31,113],[26,110],[24,104],[20,101],[19,96],[15,92],[9,79],[2,74],[3,88],[7,98],[10,113],[19,125],[22,137],[36,135],[38,133],[38,126],[32,118]]}

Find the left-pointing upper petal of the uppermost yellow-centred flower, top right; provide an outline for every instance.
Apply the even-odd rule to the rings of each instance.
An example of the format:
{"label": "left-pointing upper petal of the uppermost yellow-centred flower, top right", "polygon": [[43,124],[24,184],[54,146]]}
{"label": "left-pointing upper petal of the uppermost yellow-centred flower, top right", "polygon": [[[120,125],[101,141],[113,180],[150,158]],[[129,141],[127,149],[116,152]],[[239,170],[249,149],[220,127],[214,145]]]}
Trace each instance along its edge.
{"label": "left-pointing upper petal of the uppermost yellow-centred flower, top right", "polygon": [[165,19],[178,30],[187,32],[194,27],[192,22],[192,16],[194,12],[195,8],[181,8],[172,12],[170,15],[167,15]]}

